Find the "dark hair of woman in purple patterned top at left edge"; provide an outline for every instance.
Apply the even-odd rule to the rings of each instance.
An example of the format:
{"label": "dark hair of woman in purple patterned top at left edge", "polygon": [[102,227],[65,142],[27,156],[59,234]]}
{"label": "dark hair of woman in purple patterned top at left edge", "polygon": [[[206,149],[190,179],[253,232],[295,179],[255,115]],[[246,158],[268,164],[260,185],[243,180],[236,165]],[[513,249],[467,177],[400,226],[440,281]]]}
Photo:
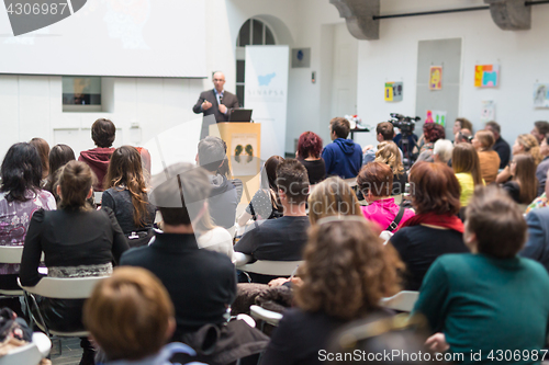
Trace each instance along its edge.
{"label": "dark hair of woman in purple patterned top at left edge", "polygon": [[11,146],[3,158],[0,175],[0,191],[8,193],[8,202],[29,201],[26,191],[37,193],[42,179],[42,161],[36,148],[27,142]]}

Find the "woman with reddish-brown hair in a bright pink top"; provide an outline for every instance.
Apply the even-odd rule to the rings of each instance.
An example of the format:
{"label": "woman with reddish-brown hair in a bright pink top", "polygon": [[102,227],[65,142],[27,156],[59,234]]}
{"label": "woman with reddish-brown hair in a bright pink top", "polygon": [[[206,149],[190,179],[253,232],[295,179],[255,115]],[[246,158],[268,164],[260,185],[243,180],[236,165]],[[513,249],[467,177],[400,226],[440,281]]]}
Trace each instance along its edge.
{"label": "woman with reddish-brown hair in a bright pink top", "polygon": [[413,210],[400,207],[390,197],[393,171],[389,166],[380,162],[366,164],[358,173],[357,184],[368,202],[368,206],[361,207],[362,214],[381,230],[394,232],[401,223],[414,216]]}

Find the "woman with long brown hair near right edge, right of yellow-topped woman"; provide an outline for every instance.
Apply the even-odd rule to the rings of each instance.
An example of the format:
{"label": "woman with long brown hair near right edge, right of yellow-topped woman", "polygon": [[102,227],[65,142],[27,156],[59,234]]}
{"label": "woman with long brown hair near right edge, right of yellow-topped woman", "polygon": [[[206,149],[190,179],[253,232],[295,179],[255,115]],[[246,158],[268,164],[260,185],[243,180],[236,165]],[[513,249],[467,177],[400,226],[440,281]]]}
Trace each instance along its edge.
{"label": "woman with long brown hair near right edge, right of yellow-topped woman", "polygon": [[538,180],[534,158],[528,155],[513,156],[509,163],[511,181],[503,184],[509,196],[517,204],[529,204],[537,195]]}

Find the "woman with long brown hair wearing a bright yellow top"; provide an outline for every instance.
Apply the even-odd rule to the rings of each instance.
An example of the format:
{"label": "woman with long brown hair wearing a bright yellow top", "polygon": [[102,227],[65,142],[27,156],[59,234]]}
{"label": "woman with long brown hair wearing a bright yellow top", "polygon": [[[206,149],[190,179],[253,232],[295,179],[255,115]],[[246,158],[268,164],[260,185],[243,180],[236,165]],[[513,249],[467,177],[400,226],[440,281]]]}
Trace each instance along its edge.
{"label": "woman with long brown hair wearing a bright yellow top", "polygon": [[459,144],[453,148],[452,169],[461,187],[459,202],[461,208],[464,208],[473,196],[474,187],[484,185],[479,155],[472,145]]}

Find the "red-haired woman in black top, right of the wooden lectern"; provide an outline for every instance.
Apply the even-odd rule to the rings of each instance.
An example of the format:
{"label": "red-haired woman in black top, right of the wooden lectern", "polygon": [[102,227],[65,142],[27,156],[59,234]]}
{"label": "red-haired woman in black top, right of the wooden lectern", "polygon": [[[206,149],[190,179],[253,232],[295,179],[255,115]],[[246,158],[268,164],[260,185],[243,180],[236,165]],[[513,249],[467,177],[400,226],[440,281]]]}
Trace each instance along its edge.
{"label": "red-haired woman in black top, right of the wooden lectern", "polygon": [[317,184],[326,178],[326,164],[321,153],[322,138],[314,132],[303,132],[298,141],[295,158],[307,169],[311,185]]}

